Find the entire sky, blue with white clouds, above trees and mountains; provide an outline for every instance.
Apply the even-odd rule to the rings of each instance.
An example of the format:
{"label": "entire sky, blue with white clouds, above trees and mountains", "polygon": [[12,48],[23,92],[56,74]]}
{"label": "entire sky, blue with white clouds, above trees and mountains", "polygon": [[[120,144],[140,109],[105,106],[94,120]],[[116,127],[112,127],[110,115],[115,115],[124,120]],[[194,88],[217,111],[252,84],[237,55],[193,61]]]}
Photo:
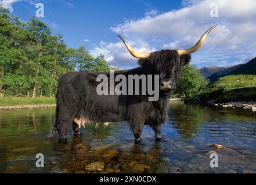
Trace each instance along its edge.
{"label": "entire sky, blue with white clouds, above trees and mountains", "polygon": [[[205,45],[192,54],[192,64],[230,66],[256,56],[256,2],[254,0],[183,1],[78,1],[0,0],[5,8],[26,21],[35,16],[35,3],[45,6],[40,18],[60,33],[68,47],[85,46],[93,56],[102,53],[112,65],[136,66],[117,34],[139,51],[190,47],[213,24],[218,24]],[[210,5],[218,17],[210,16]]]}

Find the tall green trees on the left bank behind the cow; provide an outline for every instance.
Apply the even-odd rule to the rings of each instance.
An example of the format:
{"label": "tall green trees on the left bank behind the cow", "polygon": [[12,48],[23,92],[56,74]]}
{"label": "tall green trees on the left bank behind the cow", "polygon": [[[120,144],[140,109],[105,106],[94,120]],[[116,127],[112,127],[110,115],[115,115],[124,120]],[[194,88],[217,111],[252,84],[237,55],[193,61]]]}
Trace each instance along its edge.
{"label": "tall green trees on the left bank behind the cow", "polygon": [[0,7],[0,94],[53,97],[59,77],[72,71],[109,71],[109,65],[84,46],[68,48],[37,18],[23,23]]}

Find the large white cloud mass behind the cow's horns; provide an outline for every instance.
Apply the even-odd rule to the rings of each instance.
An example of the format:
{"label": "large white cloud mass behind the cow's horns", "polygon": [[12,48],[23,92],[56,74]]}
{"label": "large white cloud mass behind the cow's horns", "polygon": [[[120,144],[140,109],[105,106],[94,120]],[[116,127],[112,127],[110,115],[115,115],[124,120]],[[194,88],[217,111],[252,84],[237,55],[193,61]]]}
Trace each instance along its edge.
{"label": "large white cloud mass behind the cow's horns", "polygon": [[[211,3],[217,3],[219,17],[210,16]],[[204,46],[193,54],[192,64],[230,65],[256,56],[255,0],[185,0],[182,5],[179,10],[156,16],[145,14],[143,18],[125,21],[110,29],[127,38],[135,49],[152,51],[152,47],[157,50],[191,47],[209,27],[218,24]],[[125,65],[135,65],[121,42],[92,49],[94,54],[97,51],[106,54],[110,64],[124,66],[125,60]]]}

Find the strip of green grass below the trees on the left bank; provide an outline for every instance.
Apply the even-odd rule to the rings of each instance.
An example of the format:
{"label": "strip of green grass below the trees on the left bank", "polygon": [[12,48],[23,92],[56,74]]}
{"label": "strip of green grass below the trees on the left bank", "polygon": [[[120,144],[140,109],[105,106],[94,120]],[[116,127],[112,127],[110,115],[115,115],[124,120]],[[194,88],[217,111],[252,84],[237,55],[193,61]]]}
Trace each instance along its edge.
{"label": "strip of green grass below the trees on the left bank", "polygon": [[3,97],[0,98],[0,106],[12,106],[12,105],[41,105],[41,104],[55,104],[55,98],[49,97]]}

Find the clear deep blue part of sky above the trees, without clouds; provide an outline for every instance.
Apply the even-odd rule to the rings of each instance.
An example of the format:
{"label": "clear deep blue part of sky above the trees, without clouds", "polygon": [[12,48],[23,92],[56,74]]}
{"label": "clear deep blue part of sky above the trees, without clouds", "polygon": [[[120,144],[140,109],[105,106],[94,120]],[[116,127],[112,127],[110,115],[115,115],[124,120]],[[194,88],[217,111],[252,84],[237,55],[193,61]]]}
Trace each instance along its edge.
{"label": "clear deep blue part of sky above the trees, without clouds", "polygon": [[[34,1],[35,3],[37,1]],[[93,43],[118,41],[110,27],[125,20],[136,20],[145,16],[146,12],[158,10],[167,12],[170,9],[181,7],[181,1],[146,1],[146,0],[99,0],[99,1],[67,1],[52,0],[38,1],[45,6],[45,17],[40,18],[51,28],[53,34],[60,33],[68,47],[85,45],[88,49]],[[26,21],[35,16],[34,4],[28,1],[13,3],[13,14]],[[90,42],[81,43],[88,39]]]}

